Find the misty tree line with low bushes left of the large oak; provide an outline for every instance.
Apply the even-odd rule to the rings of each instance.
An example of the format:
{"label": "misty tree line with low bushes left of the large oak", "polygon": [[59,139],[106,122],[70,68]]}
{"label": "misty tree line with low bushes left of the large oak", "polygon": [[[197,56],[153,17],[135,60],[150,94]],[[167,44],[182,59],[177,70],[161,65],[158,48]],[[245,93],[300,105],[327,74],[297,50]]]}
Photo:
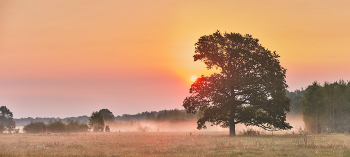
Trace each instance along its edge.
{"label": "misty tree line with low bushes left of the large oak", "polygon": [[[62,132],[109,132],[110,126],[125,127],[140,125],[137,121],[178,121],[198,119],[202,112],[197,114],[187,113],[185,110],[162,110],[159,112],[142,112],[135,115],[124,114],[115,117],[108,109],[92,112],[91,116],[79,116],[73,118],[21,118],[21,122],[31,120],[23,127],[25,133],[43,133],[44,130],[50,133]],[[79,119],[82,119],[80,121]]]}

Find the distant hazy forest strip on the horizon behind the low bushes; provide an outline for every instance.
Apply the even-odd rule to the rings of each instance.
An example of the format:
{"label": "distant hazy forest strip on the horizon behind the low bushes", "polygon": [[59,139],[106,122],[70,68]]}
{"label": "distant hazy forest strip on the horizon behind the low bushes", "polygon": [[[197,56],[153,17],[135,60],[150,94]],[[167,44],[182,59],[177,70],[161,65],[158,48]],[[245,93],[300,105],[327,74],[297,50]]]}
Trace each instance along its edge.
{"label": "distant hazy forest strip on the horizon behind the low bushes", "polygon": [[[116,122],[122,121],[140,121],[140,120],[154,120],[154,121],[170,121],[170,120],[197,120],[202,113],[198,112],[197,114],[186,113],[185,110],[162,110],[162,111],[151,111],[151,112],[142,112],[134,115],[123,114],[122,116],[114,117]],[[14,119],[17,126],[24,126],[31,122],[44,122],[51,123],[60,120],[63,123],[68,123],[69,121],[79,121],[82,123],[89,122],[89,116],[78,116],[78,117],[67,117],[67,118],[59,118],[59,117],[28,117],[28,118],[20,118]]]}

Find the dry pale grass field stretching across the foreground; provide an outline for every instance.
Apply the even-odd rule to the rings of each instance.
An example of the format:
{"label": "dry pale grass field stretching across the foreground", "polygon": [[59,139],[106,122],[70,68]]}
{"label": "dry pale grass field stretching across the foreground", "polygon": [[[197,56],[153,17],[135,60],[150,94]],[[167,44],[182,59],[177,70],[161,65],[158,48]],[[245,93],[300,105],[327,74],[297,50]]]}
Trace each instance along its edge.
{"label": "dry pale grass field stretching across the foreground", "polygon": [[350,156],[350,135],[0,134],[0,156]]}

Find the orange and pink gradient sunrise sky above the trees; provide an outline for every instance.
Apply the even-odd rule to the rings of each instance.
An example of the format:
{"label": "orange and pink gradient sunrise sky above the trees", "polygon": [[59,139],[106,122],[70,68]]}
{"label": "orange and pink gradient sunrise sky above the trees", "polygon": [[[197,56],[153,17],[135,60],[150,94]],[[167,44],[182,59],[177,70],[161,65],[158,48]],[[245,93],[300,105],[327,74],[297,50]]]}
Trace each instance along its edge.
{"label": "orange and pink gradient sunrise sky above the trees", "polygon": [[0,2],[0,106],[15,118],[182,109],[194,43],[251,34],[281,56],[289,90],[350,80],[350,1]]}

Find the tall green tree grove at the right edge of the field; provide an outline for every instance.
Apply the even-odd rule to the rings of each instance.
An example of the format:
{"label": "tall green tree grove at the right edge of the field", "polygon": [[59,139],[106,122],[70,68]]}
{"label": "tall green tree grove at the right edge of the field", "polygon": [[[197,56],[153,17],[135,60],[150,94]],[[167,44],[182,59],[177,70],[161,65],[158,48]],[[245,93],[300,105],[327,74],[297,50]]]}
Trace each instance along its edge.
{"label": "tall green tree grove at the right edge of the field", "polygon": [[343,80],[310,85],[302,99],[303,119],[311,133],[350,132],[350,84]]}

